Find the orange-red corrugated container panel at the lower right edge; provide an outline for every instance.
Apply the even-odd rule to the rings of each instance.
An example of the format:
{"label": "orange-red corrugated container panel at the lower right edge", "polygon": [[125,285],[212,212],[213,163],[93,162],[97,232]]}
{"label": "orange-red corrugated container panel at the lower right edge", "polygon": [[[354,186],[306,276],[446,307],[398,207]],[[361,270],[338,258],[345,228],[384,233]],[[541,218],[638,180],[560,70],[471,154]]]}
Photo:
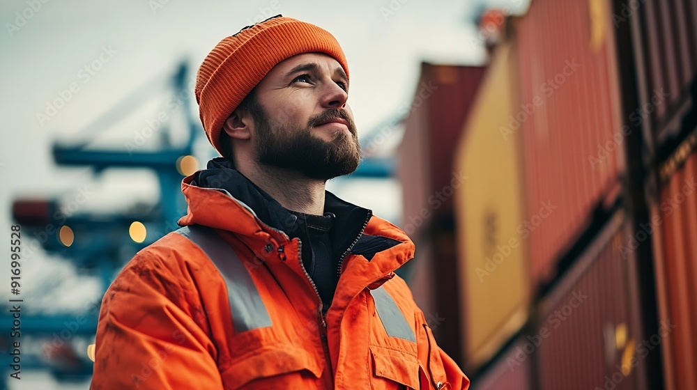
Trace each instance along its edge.
{"label": "orange-red corrugated container panel at the lower right edge", "polygon": [[655,269],[666,389],[697,389],[697,130],[661,168],[660,203],[652,205]]}

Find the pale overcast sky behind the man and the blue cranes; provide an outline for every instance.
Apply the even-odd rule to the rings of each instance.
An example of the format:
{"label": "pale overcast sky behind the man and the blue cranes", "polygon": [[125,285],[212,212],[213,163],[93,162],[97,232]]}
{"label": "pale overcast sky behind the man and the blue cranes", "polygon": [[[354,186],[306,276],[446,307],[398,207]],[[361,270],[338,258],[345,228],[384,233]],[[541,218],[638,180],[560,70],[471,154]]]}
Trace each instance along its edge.
{"label": "pale overcast sky behind the man and the blue cranes", "polygon": [[[137,200],[153,202],[158,196],[153,173],[110,170],[95,176],[89,169],[58,167],[49,153],[52,143],[81,137],[85,127],[114,104],[128,96],[137,101],[134,91],[151,85],[139,93],[152,94],[135,104],[139,109],[91,133],[95,146],[119,148],[162,109],[167,78],[179,61],[187,60],[195,72],[217,42],[247,24],[281,13],[334,34],[348,59],[348,103],[363,137],[411,101],[421,61],[469,65],[484,61],[484,49],[473,44],[477,33],[473,20],[481,3],[484,0],[3,1],[0,178],[5,185],[0,186],[0,224],[6,228],[2,231],[9,235],[11,203],[17,196],[61,196],[69,201],[89,186],[94,196],[80,211],[118,210]],[[519,0],[499,3],[516,6]],[[84,69],[98,60],[98,69]],[[74,92],[64,98],[64,106],[47,109],[47,102],[61,93],[68,96],[61,91],[71,84]],[[198,118],[197,111],[194,115]],[[197,157],[205,164],[213,149],[202,137],[199,141]],[[378,215],[399,219],[401,189],[394,182],[337,183],[329,188]],[[8,253],[9,240],[2,242],[0,250]],[[43,254],[32,258],[31,264],[23,265],[26,294],[45,295],[39,286],[50,278],[59,283],[49,306],[79,307],[76,302],[95,294],[98,285],[77,276],[67,264]],[[8,267],[0,268],[2,279],[9,279]],[[67,287],[76,284],[87,286],[89,292]],[[6,288],[0,290],[0,297],[7,295]],[[19,388],[29,389],[29,382],[24,383],[26,387]]]}

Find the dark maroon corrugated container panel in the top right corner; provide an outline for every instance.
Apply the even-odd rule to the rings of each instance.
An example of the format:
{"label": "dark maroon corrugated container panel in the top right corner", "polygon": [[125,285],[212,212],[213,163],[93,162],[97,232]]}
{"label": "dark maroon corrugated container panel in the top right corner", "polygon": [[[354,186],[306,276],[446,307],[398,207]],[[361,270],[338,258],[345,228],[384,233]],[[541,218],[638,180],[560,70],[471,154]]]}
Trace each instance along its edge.
{"label": "dark maroon corrugated container panel in the top right corner", "polygon": [[650,137],[662,143],[680,130],[680,116],[695,104],[689,86],[697,76],[697,2],[629,1],[614,18],[631,23],[641,103],[634,118],[650,118]]}

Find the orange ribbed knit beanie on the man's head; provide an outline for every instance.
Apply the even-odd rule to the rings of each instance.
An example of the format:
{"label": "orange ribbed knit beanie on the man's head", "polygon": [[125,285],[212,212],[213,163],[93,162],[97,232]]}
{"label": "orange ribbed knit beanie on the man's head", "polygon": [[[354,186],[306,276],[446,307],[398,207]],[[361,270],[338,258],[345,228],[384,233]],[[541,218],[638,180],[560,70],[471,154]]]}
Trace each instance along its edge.
{"label": "orange ribbed knit beanie on the man's head", "polygon": [[194,94],[208,141],[221,155],[222,125],[238,104],[277,63],[310,52],[334,57],[348,77],[346,56],[332,34],[281,15],[245,27],[208,53],[197,73]]}

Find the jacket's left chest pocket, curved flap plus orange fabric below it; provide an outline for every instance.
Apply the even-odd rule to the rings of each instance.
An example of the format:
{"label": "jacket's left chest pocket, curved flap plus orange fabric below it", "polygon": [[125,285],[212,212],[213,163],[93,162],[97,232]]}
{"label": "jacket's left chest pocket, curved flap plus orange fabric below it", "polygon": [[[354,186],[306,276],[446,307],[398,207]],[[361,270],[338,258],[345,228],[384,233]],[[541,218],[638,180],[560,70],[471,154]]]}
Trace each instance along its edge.
{"label": "jacket's left chest pocket, curved flap plus orange fabric below it", "polygon": [[316,389],[322,375],[315,357],[294,345],[269,345],[222,370],[225,389]]}

